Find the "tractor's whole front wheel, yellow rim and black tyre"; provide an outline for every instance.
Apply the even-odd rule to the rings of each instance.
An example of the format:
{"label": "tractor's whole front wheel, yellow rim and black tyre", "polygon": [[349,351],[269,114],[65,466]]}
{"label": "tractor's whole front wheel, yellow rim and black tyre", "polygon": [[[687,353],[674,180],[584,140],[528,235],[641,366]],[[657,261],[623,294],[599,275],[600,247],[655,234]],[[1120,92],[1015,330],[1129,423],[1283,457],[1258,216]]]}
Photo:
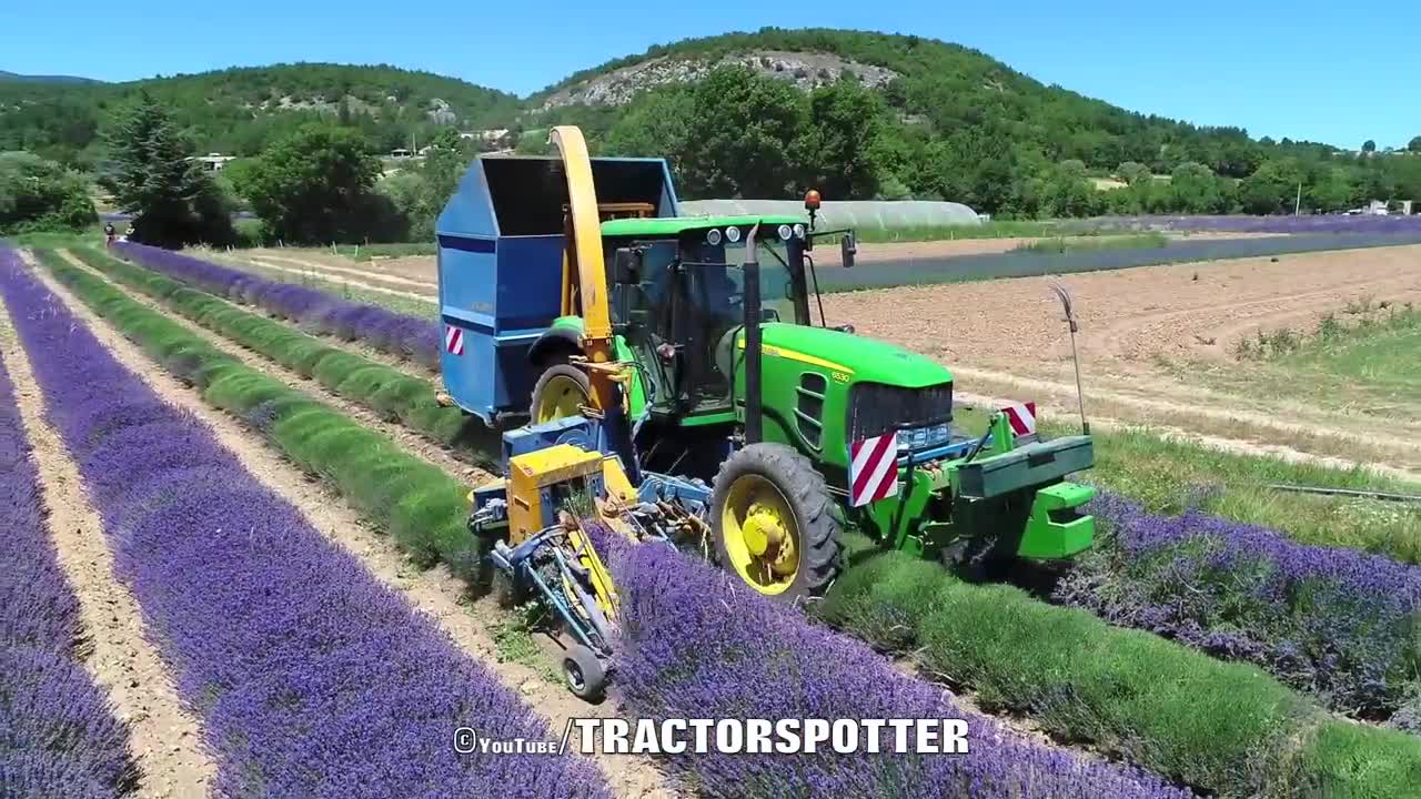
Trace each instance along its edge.
{"label": "tractor's whole front wheel, yellow rim and black tyre", "polygon": [[[838,505],[824,476],[791,446],[752,444],[720,465],[710,495],[710,530],[720,566],[777,600],[816,597],[838,573]],[[774,562],[784,545],[772,539],[790,540],[791,572]]]}

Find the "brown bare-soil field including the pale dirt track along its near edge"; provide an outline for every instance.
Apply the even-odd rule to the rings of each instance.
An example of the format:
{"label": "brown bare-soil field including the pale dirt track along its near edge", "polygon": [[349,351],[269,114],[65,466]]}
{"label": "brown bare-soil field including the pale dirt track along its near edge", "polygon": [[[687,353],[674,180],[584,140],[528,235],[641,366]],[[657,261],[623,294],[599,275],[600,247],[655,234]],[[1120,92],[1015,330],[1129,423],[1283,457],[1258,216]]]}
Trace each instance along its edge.
{"label": "brown bare-soil field including the pale dirt track along its near edge", "polygon": [[[1074,411],[1071,337],[1050,286],[1023,277],[824,297],[853,323],[951,365],[963,388],[1046,394]],[[1360,299],[1421,301],[1421,246],[1300,253],[1070,274],[1087,402],[1124,422],[1361,463],[1421,469],[1421,424],[1323,409],[1287,395],[1211,391],[1194,368],[1233,368],[1232,345],[1259,330],[1313,330]],[[1179,375],[1185,377],[1179,377]],[[1104,408],[1103,408],[1104,407]]]}

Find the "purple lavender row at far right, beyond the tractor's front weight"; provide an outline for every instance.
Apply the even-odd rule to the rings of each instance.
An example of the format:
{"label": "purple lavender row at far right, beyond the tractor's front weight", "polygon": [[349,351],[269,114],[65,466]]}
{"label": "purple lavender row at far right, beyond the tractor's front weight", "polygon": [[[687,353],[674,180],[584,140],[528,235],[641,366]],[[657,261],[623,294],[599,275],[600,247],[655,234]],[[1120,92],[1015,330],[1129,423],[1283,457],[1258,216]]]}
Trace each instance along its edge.
{"label": "purple lavender row at far right, beyond the tractor's front weight", "polygon": [[1110,536],[1057,589],[1106,620],[1255,663],[1333,708],[1387,718],[1418,701],[1421,569],[1265,527],[1094,500]]}

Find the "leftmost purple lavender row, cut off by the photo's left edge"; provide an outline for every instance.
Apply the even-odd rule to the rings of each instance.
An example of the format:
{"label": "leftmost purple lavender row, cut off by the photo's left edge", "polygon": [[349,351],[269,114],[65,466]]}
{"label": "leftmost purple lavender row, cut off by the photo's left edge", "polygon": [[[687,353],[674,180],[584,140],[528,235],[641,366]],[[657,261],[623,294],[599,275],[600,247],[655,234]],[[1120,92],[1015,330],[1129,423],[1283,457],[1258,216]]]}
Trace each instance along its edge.
{"label": "leftmost purple lavender row, cut off by the photo's left edge", "polygon": [[[14,252],[0,249],[0,269],[14,266]],[[128,728],[75,661],[78,600],[50,542],[30,454],[0,363],[0,793],[128,795],[138,788]]]}

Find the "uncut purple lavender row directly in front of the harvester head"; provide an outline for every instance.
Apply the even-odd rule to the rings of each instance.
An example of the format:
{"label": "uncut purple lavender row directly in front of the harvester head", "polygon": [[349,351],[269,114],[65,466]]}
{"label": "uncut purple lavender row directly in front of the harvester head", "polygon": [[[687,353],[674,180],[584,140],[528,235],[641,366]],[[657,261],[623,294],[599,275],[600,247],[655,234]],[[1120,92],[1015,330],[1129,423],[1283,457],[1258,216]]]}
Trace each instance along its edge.
{"label": "uncut purple lavender row directly in front of the harvester head", "polygon": [[[961,718],[966,755],[676,755],[702,796],[1185,798],[1118,765],[1029,742],[733,576],[594,532],[622,599],[617,684],[638,718]],[[666,613],[666,608],[676,608]]]}

